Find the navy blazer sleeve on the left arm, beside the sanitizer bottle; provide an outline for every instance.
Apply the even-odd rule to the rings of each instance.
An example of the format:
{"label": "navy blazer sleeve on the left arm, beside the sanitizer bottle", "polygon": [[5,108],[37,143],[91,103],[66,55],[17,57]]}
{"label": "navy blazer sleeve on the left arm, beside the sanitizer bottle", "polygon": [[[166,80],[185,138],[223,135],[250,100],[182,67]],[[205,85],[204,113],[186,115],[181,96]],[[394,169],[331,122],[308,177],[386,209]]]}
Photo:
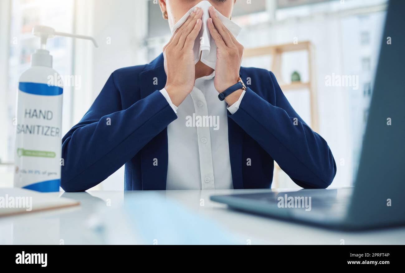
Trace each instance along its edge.
{"label": "navy blazer sleeve on the left arm, beside the sanitizer bottle", "polygon": [[123,110],[111,74],[81,121],[62,139],[61,187],[77,192],[97,185],[175,119],[158,90]]}

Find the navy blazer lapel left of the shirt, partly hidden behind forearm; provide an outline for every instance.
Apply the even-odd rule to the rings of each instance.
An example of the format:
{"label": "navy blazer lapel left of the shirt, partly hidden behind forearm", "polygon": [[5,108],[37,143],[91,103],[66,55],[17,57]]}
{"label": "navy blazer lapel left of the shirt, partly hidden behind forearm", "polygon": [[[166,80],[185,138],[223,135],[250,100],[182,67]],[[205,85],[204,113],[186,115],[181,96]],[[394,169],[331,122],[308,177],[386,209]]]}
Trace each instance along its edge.
{"label": "navy blazer lapel left of the shirt, partly hidden behind forearm", "polygon": [[[163,54],[149,63],[139,74],[141,99],[166,85]],[[152,163],[158,159],[158,165]],[[168,166],[167,128],[156,135],[141,150],[141,171],[143,190],[166,190]]]}

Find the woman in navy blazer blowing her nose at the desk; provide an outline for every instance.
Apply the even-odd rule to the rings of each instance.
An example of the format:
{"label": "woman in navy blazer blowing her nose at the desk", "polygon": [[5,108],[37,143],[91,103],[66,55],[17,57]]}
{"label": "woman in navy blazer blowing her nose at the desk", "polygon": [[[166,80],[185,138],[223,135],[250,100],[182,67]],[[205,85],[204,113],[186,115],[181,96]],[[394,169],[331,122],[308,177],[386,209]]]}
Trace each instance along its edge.
{"label": "woman in navy blazer blowing her nose at the desk", "polygon": [[[326,141],[294,111],[272,72],[240,67],[243,46],[217,16],[230,18],[235,1],[209,1],[215,71],[194,63],[203,23],[196,9],[155,60],[111,74],[63,138],[64,190],[87,190],[124,164],[125,190],[270,188],[274,161],[301,187],[330,185],[336,164]],[[171,28],[198,2],[159,0]]]}

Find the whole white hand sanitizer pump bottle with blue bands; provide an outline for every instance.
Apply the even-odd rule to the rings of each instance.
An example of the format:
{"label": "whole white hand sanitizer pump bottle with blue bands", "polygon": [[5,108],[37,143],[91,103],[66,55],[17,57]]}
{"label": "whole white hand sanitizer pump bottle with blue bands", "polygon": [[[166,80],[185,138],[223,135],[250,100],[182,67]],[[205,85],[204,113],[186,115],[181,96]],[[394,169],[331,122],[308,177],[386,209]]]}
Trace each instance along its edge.
{"label": "whole white hand sanitizer pump bottle with blue bands", "polygon": [[[55,192],[59,191],[63,161],[63,85],[52,68],[47,39],[67,36],[92,40],[96,47],[97,44],[92,37],[55,32],[46,26],[35,26],[32,34],[40,37],[41,46],[32,54],[31,68],[23,72],[18,84],[14,186]],[[55,76],[58,78],[50,80]]]}

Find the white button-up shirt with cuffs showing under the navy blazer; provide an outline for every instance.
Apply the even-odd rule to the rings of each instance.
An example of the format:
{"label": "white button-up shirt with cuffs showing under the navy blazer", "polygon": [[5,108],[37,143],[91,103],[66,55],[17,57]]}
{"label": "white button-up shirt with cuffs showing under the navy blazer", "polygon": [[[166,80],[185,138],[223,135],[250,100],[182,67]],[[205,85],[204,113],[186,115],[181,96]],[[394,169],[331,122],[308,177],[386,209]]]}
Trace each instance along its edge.
{"label": "white button-up shirt with cuffs showing under the navy blazer", "polygon": [[215,71],[196,79],[191,93],[177,108],[165,89],[162,95],[177,114],[167,127],[166,190],[232,189],[228,143],[228,116],[239,100],[226,107],[214,87]]}

